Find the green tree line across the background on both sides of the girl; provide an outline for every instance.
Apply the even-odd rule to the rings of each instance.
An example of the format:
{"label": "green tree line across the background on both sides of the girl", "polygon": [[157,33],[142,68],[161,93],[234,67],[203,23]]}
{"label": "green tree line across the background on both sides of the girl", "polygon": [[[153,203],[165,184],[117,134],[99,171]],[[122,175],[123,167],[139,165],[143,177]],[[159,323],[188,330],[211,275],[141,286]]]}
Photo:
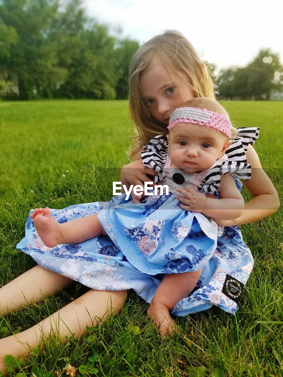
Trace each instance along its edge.
{"label": "green tree line across the background on both sides of the girl", "polygon": [[[0,91],[17,77],[21,99],[127,98],[138,48],[89,18],[82,0],[0,0]],[[268,50],[218,76],[207,64],[220,99],[269,99],[272,89],[282,91],[283,67]]]}

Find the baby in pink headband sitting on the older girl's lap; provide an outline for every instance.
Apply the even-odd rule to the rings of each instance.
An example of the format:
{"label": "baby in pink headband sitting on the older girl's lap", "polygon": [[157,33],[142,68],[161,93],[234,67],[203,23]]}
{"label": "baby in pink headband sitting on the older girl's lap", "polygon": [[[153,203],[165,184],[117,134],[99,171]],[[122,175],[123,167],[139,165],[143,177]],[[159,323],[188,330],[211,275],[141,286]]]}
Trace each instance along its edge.
{"label": "baby in pink headband sitting on the older girl's lap", "polygon": [[[228,174],[237,172],[249,179],[249,165],[236,161],[233,164],[225,155],[231,144],[231,122],[226,116],[225,109],[209,98],[195,98],[172,113],[168,126],[170,153],[164,167],[167,174],[161,182],[168,185],[170,194],[148,196],[139,205],[126,200],[126,194],[121,198],[116,196],[100,204],[102,209],[98,214],[63,224],[52,218],[49,208],[37,208],[30,215],[38,236],[50,248],[49,253],[59,244],[61,249],[67,247],[62,244],[77,244],[104,234],[137,270],[149,275],[164,273],[149,307],[162,334],[174,324],[169,311],[192,291],[202,265],[215,251],[217,225],[205,216],[233,219],[243,212],[243,198]],[[158,153],[164,143],[155,141],[160,138],[150,143]],[[156,164],[152,157],[154,152],[150,147],[144,152],[144,162]],[[181,184],[191,187],[190,210],[197,213],[184,214],[178,206],[176,189]],[[217,190],[221,199],[207,198],[204,193],[198,193],[199,188],[206,193]],[[34,233],[26,236],[29,249],[36,245]],[[29,252],[27,248],[25,251]],[[86,272],[91,270],[90,256],[88,260]],[[182,275],[177,276],[178,273]],[[172,294],[168,294],[170,290]]]}

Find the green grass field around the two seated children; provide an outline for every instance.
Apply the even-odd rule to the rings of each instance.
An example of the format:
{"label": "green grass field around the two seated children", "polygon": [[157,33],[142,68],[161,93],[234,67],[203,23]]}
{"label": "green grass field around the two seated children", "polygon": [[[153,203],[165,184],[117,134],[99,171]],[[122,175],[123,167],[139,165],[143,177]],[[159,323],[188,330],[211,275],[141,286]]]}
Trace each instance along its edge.
{"label": "green grass field around the two seated children", "polygon": [[[235,126],[260,126],[255,149],[283,196],[281,102],[223,101]],[[126,101],[0,103],[0,285],[35,265],[15,249],[30,208],[64,208],[108,200],[112,181],[128,159],[133,126]],[[249,194],[244,191],[246,200]],[[122,313],[89,336],[67,343],[51,339],[22,363],[18,376],[66,375],[98,353],[99,376],[283,375],[283,213],[241,227],[255,259],[239,310],[215,307],[177,318],[183,336],[162,340],[146,316],[148,304],[129,294]],[[0,337],[24,330],[86,291],[74,285],[8,318]],[[136,326],[136,327],[135,327]],[[11,375],[17,375],[16,372]]]}

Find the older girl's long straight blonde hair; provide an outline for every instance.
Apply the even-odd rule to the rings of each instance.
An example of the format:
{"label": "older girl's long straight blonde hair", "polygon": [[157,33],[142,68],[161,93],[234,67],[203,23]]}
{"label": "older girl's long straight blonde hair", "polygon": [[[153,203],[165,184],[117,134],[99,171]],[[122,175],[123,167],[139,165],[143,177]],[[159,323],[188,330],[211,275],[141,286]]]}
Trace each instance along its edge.
{"label": "older girl's long straight blonde hair", "polygon": [[167,134],[164,124],[150,115],[148,108],[141,100],[141,74],[156,62],[164,65],[165,69],[178,76],[181,72],[188,76],[189,85],[194,97],[208,97],[215,99],[214,85],[209,75],[208,67],[198,56],[192,44],[178,31],[166,30],[144,43],[135,53],[129,69],[129,116],[136,127],[135,143],[129,153],[133,157],[140,152],[145,144],[156,135]]}

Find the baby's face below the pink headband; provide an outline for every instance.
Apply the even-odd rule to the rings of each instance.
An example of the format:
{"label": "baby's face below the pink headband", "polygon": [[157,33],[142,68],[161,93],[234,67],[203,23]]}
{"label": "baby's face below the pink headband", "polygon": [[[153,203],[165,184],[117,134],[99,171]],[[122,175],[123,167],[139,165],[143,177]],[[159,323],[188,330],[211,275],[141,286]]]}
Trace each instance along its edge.
{"label": "baby's face below the pink headband", "polygon": [[169,131],[171,166],[186,173],[201,172],[222,157],[230,144],[226,135],[213,128],[177,124]]}

